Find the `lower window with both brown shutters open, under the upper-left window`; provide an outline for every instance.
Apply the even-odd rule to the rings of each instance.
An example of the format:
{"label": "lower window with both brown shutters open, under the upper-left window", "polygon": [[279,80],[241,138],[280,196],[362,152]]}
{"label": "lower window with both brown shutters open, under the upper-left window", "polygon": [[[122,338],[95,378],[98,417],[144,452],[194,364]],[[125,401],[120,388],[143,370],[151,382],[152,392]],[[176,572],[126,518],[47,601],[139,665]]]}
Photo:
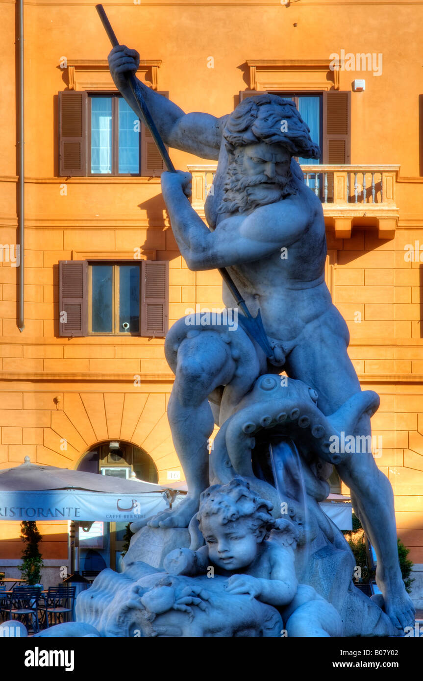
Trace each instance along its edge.
{"label": "lower window with both brown shutters open, under the upper-left window", "polygon": [[169,263],[59,262],[59,336],[166,336]]}

